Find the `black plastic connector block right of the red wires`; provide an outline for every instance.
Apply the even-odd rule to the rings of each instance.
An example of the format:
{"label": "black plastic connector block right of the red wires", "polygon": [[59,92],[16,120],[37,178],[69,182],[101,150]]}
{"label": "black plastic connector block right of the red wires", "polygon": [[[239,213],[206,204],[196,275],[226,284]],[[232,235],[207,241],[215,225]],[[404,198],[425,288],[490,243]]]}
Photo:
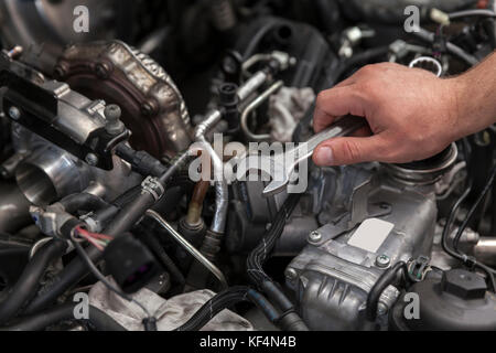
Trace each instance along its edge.
{"label": "black plastic connector block right of the red wires", "polygon": [[112,240],[105,249],[104,259],[109,274],[126,293],[140,290],[158,274],[153,255],[131,234]]}

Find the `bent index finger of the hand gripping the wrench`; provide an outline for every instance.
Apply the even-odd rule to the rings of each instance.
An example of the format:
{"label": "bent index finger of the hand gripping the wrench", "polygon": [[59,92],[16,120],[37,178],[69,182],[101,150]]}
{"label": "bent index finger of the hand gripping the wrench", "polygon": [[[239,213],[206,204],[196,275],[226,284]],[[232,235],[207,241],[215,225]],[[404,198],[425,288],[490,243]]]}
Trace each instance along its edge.
{"label": "bent index finger of the hand gripping the wrench", "polygon": [[364,116],[364,109],[355,85],[351,84],[324,90],[317,97],[313,128],[315,132],[320,132],[333,124],[337,117],[348,114]]}

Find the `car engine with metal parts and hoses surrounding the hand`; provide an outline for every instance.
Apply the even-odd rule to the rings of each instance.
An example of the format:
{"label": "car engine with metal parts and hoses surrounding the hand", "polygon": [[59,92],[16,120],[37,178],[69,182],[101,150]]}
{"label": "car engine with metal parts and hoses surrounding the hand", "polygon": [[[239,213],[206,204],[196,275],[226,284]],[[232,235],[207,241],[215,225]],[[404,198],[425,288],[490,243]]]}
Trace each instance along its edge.
{"label": "car engine with metal parts and hoses surrounding the hand", "polygon": [[1,1],[0,330],[496,330],[494,126],[407,164],[306,150],[319,93],[380,62],[460,75],[495,11]]}

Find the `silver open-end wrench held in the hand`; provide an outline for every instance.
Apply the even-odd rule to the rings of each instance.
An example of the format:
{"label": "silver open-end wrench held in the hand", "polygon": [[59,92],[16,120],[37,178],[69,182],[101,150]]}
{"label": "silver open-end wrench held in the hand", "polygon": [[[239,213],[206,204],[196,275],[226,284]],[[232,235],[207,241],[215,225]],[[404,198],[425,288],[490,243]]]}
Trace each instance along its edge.
{"label": "silver open-end wrench held in the hand", "polygon": [[237,178],[246,176],[248,172],[261,171],[270,176],[272,181],[263,190],[263,196],[268,197],[283,192],[291,182],[295,168],[303,161],[312,157],[315,148],[322,142],[348,136],[363,127],[366,127],[366,119],[355,116],[346,116],[331,125],[325,130],[316,133],[306,142],[273,156],[248,156],[237,164]]}

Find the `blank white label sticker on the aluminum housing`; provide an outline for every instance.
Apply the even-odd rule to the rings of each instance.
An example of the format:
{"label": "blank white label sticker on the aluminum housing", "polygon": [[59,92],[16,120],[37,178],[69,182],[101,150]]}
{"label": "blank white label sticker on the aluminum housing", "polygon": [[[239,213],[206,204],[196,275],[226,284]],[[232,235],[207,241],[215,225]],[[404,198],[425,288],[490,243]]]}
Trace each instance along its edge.
{"label": "blank white label sticker on the aluminum housing", "polygon": [[392,223],[382,220],[366,220],[358,229],[356,229],[355,234],[349,239],[348,245],[370,253],[377,253],[393,227],[395,225]]}

